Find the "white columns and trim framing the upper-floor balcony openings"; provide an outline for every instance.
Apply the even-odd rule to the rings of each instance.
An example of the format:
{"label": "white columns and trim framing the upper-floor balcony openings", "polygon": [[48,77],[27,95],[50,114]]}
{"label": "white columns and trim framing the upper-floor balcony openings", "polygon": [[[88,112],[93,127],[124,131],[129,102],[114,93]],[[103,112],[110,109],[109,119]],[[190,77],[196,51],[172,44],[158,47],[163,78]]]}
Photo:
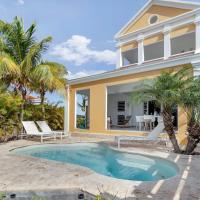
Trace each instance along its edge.
{"label": "white columns and trim framing the upper-floor balcony openings", "polygon": [[[179,52],[180,50],[177,50],[177,53],[176,53],[176,51],[175,51],[175,53],[173,53],[174,49],[172,49],[172,47],[173,48],[174,48],[174,46],[178,47],[178,45],[172,44],[172,39],[170,37],[171,31],[173,31],[174,29],[178,29],[178,28],[187,26],[189,24],[195,24],[195,31],[192,36],[193,38],[191,38],[191,40],[193,40],[193,41],[192,41],[192,43],[188,42],[188,45],[191,45],[190,49],[186,49],[186,50],[183,49],[182,50],[183,54],[181,52]],[[196,10],[190,11],[188,13],[174,17],[170,20],[148,26],[146,28],[135,31],[133,33],[123,35],[123,36],[117,38],[118,46],[123,46],[127,43],[130,43],[131,41],[138,41],[137,64],[141,65],[142,63],[144,63],[146,61],[148,61],[148,62],[150,61],[150,60],[145,60],[144,39],[148,38],[150,36],[159,34],[159,33],[163,33],[163,36],[164,36],[164,49],[163,49],[163,55],[164,55],[163,59],[164,60],[169,59],[171,56],[175,56],[178,54],[184,55],[185,53],[193,51],[193,50],[194,50],[194,53],[200,53],[200,9],[196,9]],[[187,41],[188,41],[188,39],[183,41],[183,42],[185,42],[185,46],[188,46]],[[153,51],[153,49],[152,49],[152,51]],[[130,55],[129,55],[129,57],[130,57]],[[153,61],[155,59],[157,59],[157,58],[155,57],[155,58],[151,59],[151,61]],[[158,59],[160,59],[160,58],[158,58]],[[118,62],[118,68],[123,67],[124,63],[123,63],[122,53],[118,53],[118,60],[121,60],[120,64]],[[132,64],[135,65],[135,63],[130,63],[129,65],[132,65]]]}

